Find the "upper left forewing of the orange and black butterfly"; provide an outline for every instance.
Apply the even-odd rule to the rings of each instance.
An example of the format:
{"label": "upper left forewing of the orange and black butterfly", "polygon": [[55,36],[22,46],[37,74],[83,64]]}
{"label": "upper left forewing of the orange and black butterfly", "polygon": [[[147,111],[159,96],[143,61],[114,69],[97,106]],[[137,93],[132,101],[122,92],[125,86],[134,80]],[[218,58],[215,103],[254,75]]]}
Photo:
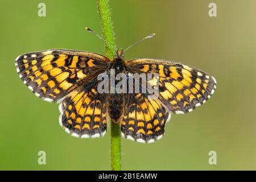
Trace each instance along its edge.
{"label": "upper left forewing of the orange and black butterfly", "polygon": [[15,67],[36,96],[56,102],[104,71],[109,63],[108,58],[96,53],[48,49],[18,56]]}

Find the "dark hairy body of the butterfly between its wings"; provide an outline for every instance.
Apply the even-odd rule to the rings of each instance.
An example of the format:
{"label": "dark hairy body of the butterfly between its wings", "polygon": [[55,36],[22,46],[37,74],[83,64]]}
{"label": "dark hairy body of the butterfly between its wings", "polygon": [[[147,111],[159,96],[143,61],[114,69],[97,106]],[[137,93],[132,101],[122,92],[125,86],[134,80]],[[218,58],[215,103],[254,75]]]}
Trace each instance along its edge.
{"label": "dark hairy body of the butterfly between its wings", "polygon": [[[113,60],[110,64],[110,69],[114,69],[115,76],[118,73],[126,72],[126,63],[125,57],[122,55],[122,50],[117,51],[117,55],[113,57]],[[119,81],[115,80],[115,84]],[[123,115],[123,110],[125,106],[125,98],[123,93],[110,93],[108,96],[108,111],[109,116],[115,123],[118,123]]]}

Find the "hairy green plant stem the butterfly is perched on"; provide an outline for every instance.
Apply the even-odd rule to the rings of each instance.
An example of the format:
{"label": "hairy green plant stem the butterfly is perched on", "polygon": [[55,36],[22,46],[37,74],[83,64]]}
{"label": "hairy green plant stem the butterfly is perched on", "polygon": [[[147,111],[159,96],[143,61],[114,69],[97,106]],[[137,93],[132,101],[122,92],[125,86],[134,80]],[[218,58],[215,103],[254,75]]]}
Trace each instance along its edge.
{"label": "hairy green plant stem the butterfly is perched on", "polygon": [[[106,40],[105,51],[106,56],[112,59],[115,51],[114,31],[112,27],[112,20],[110,17],[110,9],[108,0],[97,0],[98,12],[101,18],[101,27],[103,37]],[[121,130],[120,125],[110,121],[111,125],[111,167],[113,171],[121,170]]]}

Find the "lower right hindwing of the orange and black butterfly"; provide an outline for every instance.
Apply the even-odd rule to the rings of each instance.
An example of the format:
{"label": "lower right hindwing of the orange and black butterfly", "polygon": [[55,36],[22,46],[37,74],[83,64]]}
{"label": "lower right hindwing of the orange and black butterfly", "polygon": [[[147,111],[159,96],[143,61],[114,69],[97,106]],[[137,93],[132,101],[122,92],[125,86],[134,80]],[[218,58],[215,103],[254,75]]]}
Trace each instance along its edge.
{"label": "lower right hindwing of the orange and black butterfly", "polygon": [[171,114],[158,99],[147,94],[129,94],[121,123],[123,137],[137,142],[152,143],[163,137],[164,125]]}

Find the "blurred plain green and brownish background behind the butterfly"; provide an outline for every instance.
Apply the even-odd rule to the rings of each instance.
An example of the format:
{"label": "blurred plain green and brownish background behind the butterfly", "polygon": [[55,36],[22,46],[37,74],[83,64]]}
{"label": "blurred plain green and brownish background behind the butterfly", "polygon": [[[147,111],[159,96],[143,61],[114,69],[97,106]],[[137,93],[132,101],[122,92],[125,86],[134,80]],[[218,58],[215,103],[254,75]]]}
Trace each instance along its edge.
{"label": "blurred plain green and brownish background behind the butterfly", "polygon": [[[46,17],[38,4],[46,3]],[[217,17],[209,17],[209,3]],[[110,169],[110,129],[103,138],[78,139],[59,126],[59,110],[34,96],[18,77],[16,56],[49,48],[104,54],[96,1],[0,1],[0,169]],[[155,32],[126,53],[180,61],[213,75],[210,100],[192,113],[172,115],[163,139],[122,139],[122,169],[256,169],[256,1],[111,1],[118,47]],[[38,151],[46,151],[46,165]],[[208,152],[217,152],[209,165]]]}

